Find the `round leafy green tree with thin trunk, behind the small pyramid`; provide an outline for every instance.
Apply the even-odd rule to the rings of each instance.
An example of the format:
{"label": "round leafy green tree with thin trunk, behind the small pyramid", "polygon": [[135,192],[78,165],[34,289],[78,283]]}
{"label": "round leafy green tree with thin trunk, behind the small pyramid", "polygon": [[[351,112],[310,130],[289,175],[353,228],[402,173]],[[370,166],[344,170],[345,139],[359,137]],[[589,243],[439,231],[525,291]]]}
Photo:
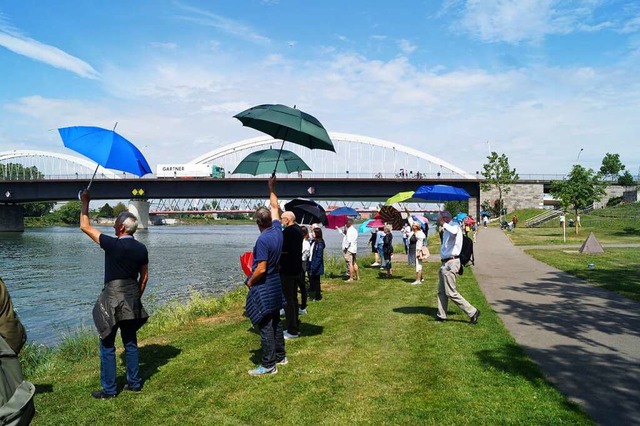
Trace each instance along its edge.
{"label": "round leafy green tree with thin trunk, behind the small pyramid", "polygon": [[[557,180],[551,183],[551,195],[560,200],[563,208],[573,209],[576,217],[578,210],[590,206],[605,195],[606,183],[601,176],[592,169],[585,169],[576,164],[565,180]],[[576,234],[579,226],[576,222]]]}

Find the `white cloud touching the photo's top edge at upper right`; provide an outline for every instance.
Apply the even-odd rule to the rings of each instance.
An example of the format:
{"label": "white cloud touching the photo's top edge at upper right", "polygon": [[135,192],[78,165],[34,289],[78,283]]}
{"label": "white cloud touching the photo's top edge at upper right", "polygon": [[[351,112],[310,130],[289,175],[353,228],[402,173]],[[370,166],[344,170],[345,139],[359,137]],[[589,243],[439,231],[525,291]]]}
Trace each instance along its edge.
{"label": "white cloud touching the photo's top edge at upper right", "polygon": [[[458,31],[485,42],[538,43],[550,34],[593,32],[610,28],[609,21],[591,22],[599,1],[467,0],[448,3],[445,12],[459,14]],[[454,7],[455,6],[455,7]]]}

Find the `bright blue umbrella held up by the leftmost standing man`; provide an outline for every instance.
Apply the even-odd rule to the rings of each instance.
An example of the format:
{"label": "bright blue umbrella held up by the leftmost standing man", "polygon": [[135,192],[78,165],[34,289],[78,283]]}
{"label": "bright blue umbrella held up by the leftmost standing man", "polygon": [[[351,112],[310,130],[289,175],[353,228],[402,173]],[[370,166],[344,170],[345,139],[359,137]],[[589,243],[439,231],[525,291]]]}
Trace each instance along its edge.
{"label": "bright blue umbrella held up by the leftmost standing man", "polygon": [[[116,123],[117,125],[117,123]],[[114,130],[101,127],[76,126],[58,129],[64,146],[98,163],[107,169],[144,176],[151,173],[151,167],[138,148]],[[89,187],[96,176],[93,173]]]}

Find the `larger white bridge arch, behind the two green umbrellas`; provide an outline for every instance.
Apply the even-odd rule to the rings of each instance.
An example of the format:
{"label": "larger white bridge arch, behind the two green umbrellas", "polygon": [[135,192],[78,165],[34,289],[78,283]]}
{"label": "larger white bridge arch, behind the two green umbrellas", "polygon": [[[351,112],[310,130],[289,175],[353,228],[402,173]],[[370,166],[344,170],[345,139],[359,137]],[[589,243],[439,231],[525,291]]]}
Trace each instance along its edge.
{"label": "larger white bridge arch, behind the two green umbrellas", "polygon": [[[313,169],[312,175],[350,177],[436,177],[477,179],[464,170],[438,157],[397,143],[349,133],[329,133],[336,153],[309,150],[285,142],[284,148],[298,154]],[[270,136],[245,139],[210,151],[190,161],[190,164],[215,163],[231,172],[255,148],[280,148],[281,140]],[[320,167],[320,170],[317,170]],[[305,172],[307,173],[307,172]]]}

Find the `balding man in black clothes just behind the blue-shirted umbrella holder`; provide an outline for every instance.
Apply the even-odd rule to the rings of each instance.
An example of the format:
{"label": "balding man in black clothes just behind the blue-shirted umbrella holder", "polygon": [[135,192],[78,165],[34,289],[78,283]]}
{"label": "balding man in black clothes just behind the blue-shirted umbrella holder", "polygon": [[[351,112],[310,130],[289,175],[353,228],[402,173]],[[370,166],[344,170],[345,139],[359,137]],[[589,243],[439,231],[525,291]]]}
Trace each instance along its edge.
{"label": "balding man in black clothes just behind the blue-shirted umbrella holder", "polygon": [[[280,280],[284,294],[284,315],[287,329],[285,339],[300,337],[300,319],[298,306],[298,288],[304,285],[302,269],[302,228],[296,223],[293,212],[282,213],[282,254],[280,255]],[[301,282],[302,281],[302,282]]]}

